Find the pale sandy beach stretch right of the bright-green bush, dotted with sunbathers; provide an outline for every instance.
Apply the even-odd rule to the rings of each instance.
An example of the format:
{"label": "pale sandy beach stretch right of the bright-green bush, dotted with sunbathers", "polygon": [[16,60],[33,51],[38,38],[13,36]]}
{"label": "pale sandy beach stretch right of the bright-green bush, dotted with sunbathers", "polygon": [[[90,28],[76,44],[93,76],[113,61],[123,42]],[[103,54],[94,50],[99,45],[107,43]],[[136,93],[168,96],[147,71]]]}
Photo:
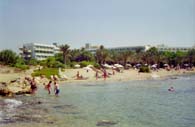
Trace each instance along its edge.
{"label": "pale sandy beach stretch right of the bright-green bush, dotted with sunbathers", "polygon": [[[79,71],[79,74],[83,77],[87,77],[86,80],[76,80],[75,75]],[[103,74],[99,73],[99,76],[101,78],[96,79],[95,72],[94,71],[86,71],[83,69],[67,69],[63,74],[65,74],[68,77],[68,80],[64,82],[102,82],[102,81],[128,81],[128,80],[147,80],[147,79],[162,79],[169,76],[176,76],[176,75],[185,75],[185,74],[195,74],[194,69],[192,71],[186,71],[185,69],[181,70],[170,70],[167,71],[165,69],[159,69],[158,71],[151,71],[150,73],[138,73],[138,70],[135,69],[129,69],[129,70],[123,70],[122,72],[116,72],[113,75],[112,70],[107,70],[109,77],[104,80]]]}

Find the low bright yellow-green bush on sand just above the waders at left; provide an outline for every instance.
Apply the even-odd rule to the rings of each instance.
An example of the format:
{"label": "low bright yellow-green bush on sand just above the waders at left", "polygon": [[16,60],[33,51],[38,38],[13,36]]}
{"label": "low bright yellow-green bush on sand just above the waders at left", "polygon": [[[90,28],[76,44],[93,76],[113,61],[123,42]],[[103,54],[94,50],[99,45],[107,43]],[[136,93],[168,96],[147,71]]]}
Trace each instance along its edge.
{"label": "low bright yellow-green bush on sand just above the waders at left", "polygon": [[35,70],[32,74],[32,76],[41,76],[45,75],[47,78],[50,78],[51,75],[58,75],[58,68],[43,68],[41,70]]}

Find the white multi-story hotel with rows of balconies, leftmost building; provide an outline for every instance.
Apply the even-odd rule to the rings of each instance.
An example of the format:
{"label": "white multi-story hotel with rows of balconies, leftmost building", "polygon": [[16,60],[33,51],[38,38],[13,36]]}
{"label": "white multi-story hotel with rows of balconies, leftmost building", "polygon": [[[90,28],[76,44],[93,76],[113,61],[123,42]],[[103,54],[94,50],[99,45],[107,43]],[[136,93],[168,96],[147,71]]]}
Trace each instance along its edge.
{"label": "white multi-story hotel with rows of balconies, leftmost building", "polygon": [[56,43],[41,44],[41,43],[27,43],[20,48],[20,55],[25,59],[45,60],[48,57],[54,56],[60,52],[60,48]]}

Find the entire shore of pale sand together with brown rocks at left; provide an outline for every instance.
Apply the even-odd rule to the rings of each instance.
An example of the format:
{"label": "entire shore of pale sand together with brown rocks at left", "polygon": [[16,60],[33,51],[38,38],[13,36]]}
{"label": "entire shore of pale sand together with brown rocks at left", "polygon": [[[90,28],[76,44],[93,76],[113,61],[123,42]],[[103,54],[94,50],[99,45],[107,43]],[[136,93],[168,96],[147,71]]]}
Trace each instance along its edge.
{"label": "entire shore of pale sand together with brown rocks at left", "polygon": [[[128,82],[128,81],[144,81],[144,80],[163,80],[163,79],[177,79],[178,76],[185,75],[195,75],[195,70],[187,71],[182,70],[171,70],[166,71],[165,69],[159,69],[158,71],[151,71],[150,73],[139,73],[138,70],[130,69],[123,70],[122,72],[112,73],[113,70],[106,70],[108,73],[108,78],[104,79],[102,72],[98,79],[96,79],[96,72],[86,71],[82,68],[80,69],[66,69],[62,72],[68,79],[60,80],[57,79],[58,84],[60,85],[101,85],[101,84],[110,84],[116,82]],[[2,71],[1,71],[2,72]],[[0,73],[0,95],[3,96],[13,96],[19,94],[29,94],[32,92],[31,84],[27,80],[32,78],[31,72],[33,69],[28,70],[27,72],[9,72],[9,73]],[[76,79],[76,75],[79,73],[83,79]],[[7,81],[7,82],[5,82]],[[49,81],[55,81],[47,79],[43,76],[35,77],[34,81],[37,86],[40,88],[45,88]]]}

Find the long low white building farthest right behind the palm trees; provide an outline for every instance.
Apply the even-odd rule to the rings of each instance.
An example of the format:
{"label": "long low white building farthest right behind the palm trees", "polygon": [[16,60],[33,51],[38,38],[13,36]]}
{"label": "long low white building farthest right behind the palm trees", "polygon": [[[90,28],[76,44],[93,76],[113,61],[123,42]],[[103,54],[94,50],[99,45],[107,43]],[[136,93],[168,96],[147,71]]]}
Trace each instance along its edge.
{"label": "long low white building farthest right behind the palm trees", "polygon": [[177,51],[187,52],[190,49],[195,49],[195,47],[168,47],[165,45],[157,45],[156,48],[158,49],[158,51],[169,51],[169,52],[177,52]]}

